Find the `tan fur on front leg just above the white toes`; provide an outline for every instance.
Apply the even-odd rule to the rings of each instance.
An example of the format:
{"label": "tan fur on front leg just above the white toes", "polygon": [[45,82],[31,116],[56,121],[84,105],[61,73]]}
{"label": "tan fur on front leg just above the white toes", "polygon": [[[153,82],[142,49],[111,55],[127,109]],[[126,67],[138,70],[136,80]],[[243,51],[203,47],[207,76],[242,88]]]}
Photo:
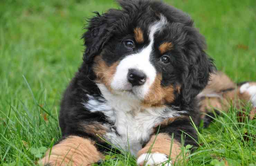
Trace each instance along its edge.
{"label": "tan fur on front leg just above the white toes", "polygon": [[[154,143],[154,141],[155,141],[155,143]],[[170,149],[171,149],[171,145],[172,145],[172,149],[171,149],[172,153],[170,156],[172,161],[175,161],[177,156],[181,153],[181,144],[177,140],[175,140],[175,139],[172,140],[172,138],[168,134],[159,133],[157,136],[154,135],[150,138],[150,140],[148,141],[146,146],[144,148],[142,148],[141,150],[139,150],[137,157],[139,157],[142,154],[148,153],[148,151],[152,145],[153,145],[153,147],[151,149],[151,153],[162,153],[167,156],[170,155]],[[182,156],[182,155],[180,155],[180,156]]]}

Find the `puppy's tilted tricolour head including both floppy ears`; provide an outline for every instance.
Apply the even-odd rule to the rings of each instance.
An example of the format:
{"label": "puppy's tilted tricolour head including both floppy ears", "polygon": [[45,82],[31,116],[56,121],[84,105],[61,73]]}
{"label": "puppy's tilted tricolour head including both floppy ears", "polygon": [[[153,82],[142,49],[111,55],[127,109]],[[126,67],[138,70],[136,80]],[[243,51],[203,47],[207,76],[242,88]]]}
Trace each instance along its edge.
{"label": "puppy's tilted tricolour head including both floppy ears", "polygon": [[214,68],[191,18],[163,2],[118,2],[122,9],[90,19],[85,64],[112,94],[149,105],[189,103]]}

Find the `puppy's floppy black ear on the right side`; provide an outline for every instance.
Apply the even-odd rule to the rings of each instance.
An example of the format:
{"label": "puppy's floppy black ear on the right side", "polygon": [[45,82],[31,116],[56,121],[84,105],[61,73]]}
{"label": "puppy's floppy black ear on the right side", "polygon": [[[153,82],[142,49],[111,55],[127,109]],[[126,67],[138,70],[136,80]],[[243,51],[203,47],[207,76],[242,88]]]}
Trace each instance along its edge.
{"label": "puppy's floppy black ear on the right side", "polygon": [[206,48],[204,37],[194,28],[189,28],[187,48],[188,66],[182,76],[182,98],[189,103],[208,84],[210,74],[216,70],[213,59],[204,52]]}

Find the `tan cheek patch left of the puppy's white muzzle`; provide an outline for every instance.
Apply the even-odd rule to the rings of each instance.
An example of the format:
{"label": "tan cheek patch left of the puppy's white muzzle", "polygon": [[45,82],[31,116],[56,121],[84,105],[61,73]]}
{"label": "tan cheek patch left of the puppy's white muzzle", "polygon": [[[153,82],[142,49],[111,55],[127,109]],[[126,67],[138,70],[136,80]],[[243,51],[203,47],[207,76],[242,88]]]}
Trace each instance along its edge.
{"label": "tan cheek patch left of the puppy's white muzzle", "polygon": [[116,73],[116,68],[119,64],[118,62],[113,63],[111,66],[108,66],[101,56],[95,57],[93,71],[97,76],[98,82],[103,83],[108,90],[111,91],[111,81],[114,74]]}

